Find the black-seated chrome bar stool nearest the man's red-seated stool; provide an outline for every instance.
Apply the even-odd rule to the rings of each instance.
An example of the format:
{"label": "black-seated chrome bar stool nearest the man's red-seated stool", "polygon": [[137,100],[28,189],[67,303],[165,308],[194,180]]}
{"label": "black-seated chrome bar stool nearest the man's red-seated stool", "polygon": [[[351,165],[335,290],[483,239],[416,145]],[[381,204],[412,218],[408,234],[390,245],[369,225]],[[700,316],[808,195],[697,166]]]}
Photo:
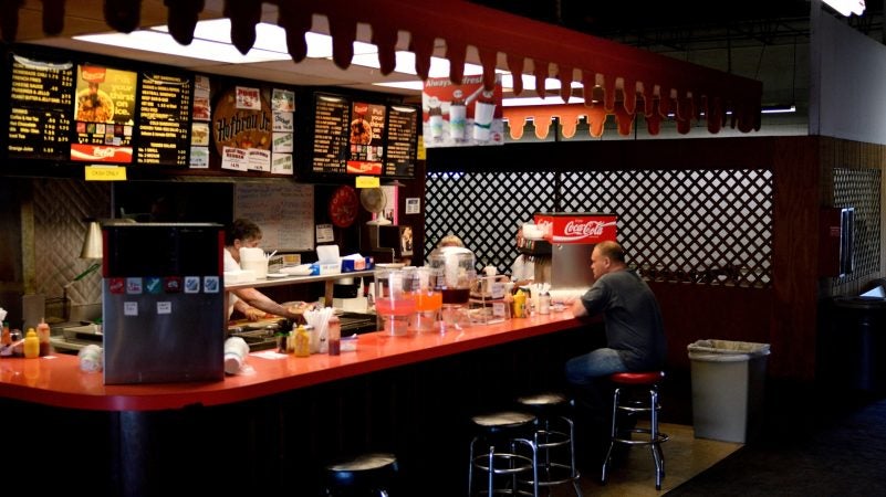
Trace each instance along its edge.
{"label": "black-seated chrome bar stool nearest the man's red-seated stool", "polygon": [[575,467],[575,425],[566,395],[544,392],[517,399],[520,409],[535,414],[535,443],[539,451],[539,486],[572,482],[582,497],[578,469]]}

